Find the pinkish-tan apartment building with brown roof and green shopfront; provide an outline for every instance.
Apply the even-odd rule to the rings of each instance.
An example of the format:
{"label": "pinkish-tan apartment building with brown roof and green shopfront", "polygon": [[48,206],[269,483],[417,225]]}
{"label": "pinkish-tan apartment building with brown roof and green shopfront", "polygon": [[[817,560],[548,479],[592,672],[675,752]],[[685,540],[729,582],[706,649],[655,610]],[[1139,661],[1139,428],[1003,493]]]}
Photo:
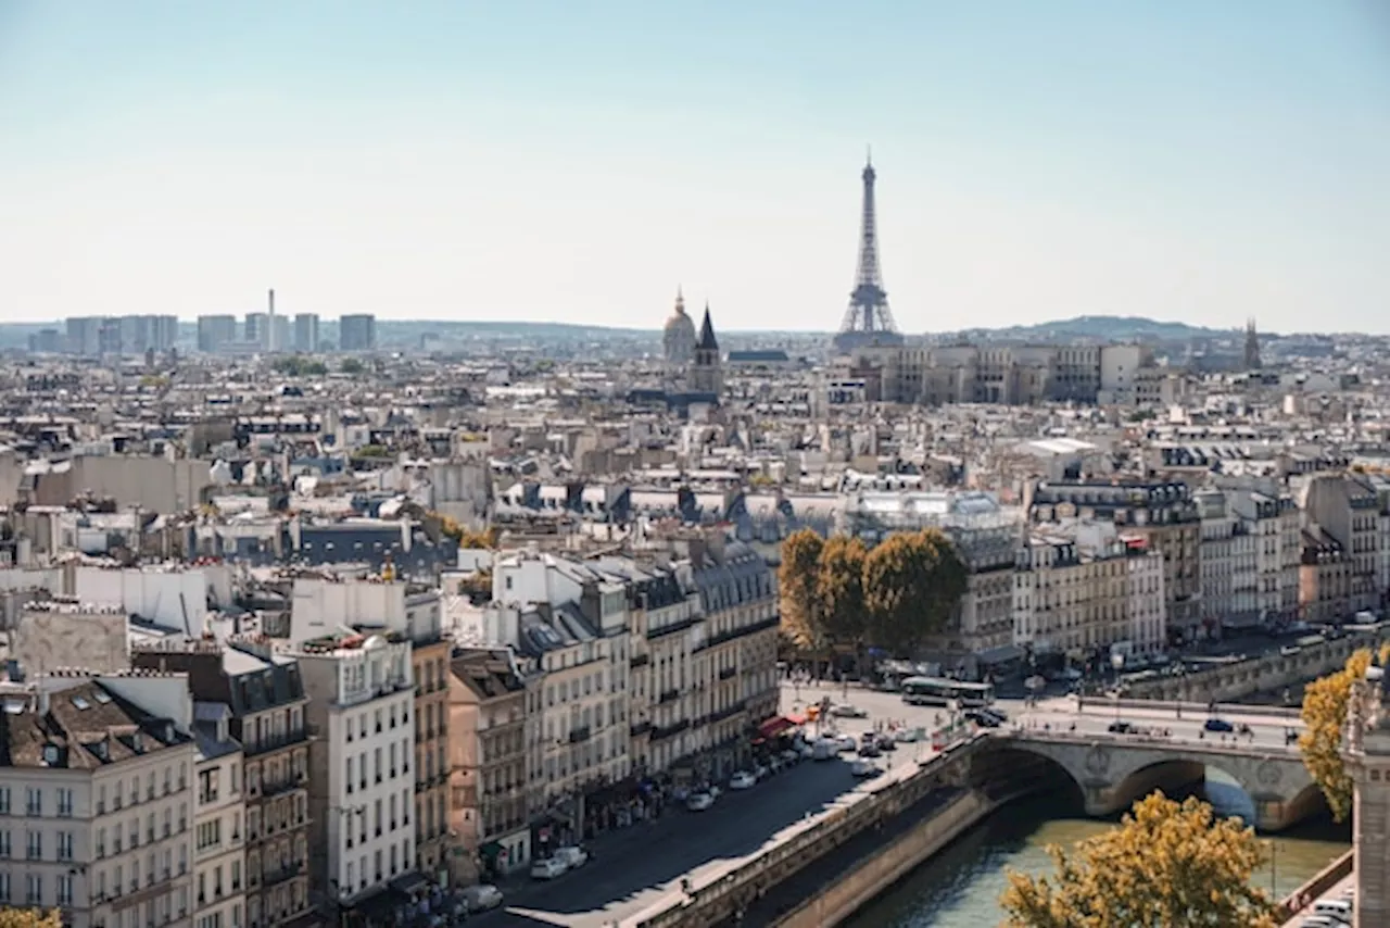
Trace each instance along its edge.
{"label": "pinkish-tan apartment building with brown roof and green shopfront", "polygon": [[506,648],[463,648],[449,673],[450,825],[456,883],[495,879],[531,863],[527,687]]}

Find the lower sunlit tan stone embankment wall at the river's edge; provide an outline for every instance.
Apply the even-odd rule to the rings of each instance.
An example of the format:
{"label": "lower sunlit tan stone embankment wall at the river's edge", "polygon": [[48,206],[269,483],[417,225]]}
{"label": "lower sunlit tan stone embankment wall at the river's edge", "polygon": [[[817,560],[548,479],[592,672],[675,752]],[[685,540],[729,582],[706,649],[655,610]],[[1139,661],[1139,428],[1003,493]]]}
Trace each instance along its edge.
{"label": "lower sunlit tan stone embankment wall at the river's edge", "polygon": [[962,793],[917,828],[863,858],[801,906],[773,922],[774,928],[834,928],[881,892],[970,831],[1008,799],[981,790]]}

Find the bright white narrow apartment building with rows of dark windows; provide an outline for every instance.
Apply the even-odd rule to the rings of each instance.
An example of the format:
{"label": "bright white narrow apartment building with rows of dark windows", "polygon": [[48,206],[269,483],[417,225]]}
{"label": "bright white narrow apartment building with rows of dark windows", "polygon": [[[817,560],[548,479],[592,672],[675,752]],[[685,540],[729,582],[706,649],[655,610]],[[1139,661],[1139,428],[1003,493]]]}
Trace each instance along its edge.
{"label": "bright white narrow apartment building with rows of dark windows", "polygon": [[314,888],[343,921],[393,918],[428,888],[416,870],[410,639],[339,632],[302,640],[293,653],[316,733],[309,799]]}

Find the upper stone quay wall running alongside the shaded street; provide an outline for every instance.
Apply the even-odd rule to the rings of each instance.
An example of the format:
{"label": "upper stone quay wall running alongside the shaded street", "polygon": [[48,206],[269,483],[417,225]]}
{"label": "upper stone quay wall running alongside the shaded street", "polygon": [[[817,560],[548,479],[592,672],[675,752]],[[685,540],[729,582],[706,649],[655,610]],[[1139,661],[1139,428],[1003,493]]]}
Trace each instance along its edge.
{"label": "upper stone quay wall running alongside the shaded street", "polygon": [[[960,796],[923,819],[924,825],[938,821],[947,810],[959,808],[956,817],[965,814],[973,806],[960,806],[960,800],[977,790],[962,787],[969,781],[970,758],[983,737],[962,742],[916,769],[870,786],[856,801],[810,818],[756,854],[682,885],[641,914],[623,920],[620,928],[709,928],[733,920],[735,913],[755,904],[798,871],[834,853],[856,835],[881,828],[892,817],[913,810],[934,792],[959,790]],[[952,836],[963,831],[965,826],[958,825]]]}

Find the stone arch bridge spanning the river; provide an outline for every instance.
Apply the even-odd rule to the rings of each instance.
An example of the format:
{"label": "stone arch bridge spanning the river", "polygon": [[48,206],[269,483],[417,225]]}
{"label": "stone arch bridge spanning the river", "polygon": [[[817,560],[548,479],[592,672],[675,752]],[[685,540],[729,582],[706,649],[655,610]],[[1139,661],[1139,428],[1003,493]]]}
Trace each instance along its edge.
{"label": "stone arch bridge spanning the river", "polygon": [[1098,735],[1042,729],[995,730],[974,761],[979,774],[998,767],[1004,755],[1051,761],[1080,787],[1088,815],[1112,815],[1155,789],[1176,792],[1205,778],[1208,765],[1225,771],[1255,804],[1262,832],[1277,832],[1323,807],[1322,790],[1309,776],[1294,744],[1176,740],[1144,735]]}

